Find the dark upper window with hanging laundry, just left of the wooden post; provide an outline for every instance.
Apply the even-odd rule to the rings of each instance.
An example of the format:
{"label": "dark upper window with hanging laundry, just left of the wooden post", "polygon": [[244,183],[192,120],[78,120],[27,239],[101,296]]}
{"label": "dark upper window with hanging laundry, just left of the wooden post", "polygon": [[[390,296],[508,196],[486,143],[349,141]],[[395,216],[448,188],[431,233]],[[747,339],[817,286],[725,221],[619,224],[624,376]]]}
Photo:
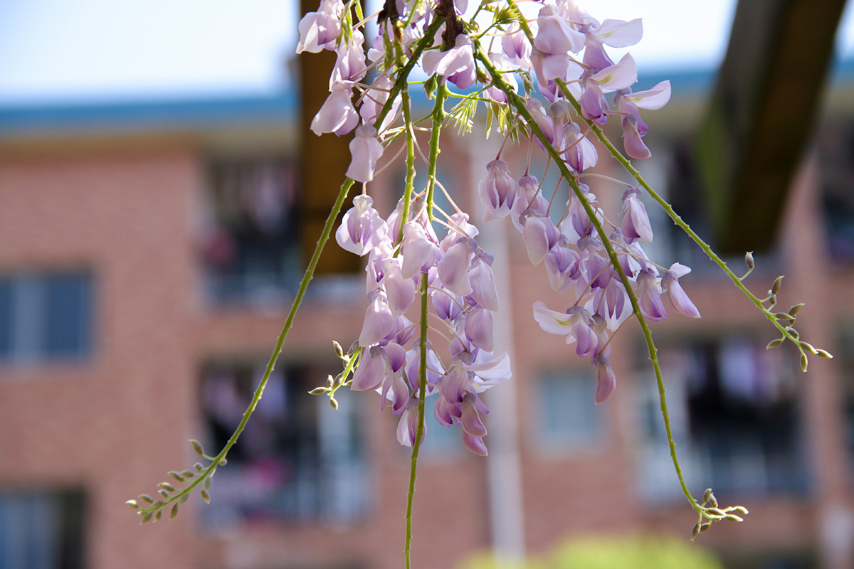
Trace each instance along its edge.
{"label": "dark upper window with hanging laundry, just left of the wooden post", "polygon": [[262,304],[293,296],[302,276],[294,162],[217,160],[209,174],[208,292],[218,301]]}

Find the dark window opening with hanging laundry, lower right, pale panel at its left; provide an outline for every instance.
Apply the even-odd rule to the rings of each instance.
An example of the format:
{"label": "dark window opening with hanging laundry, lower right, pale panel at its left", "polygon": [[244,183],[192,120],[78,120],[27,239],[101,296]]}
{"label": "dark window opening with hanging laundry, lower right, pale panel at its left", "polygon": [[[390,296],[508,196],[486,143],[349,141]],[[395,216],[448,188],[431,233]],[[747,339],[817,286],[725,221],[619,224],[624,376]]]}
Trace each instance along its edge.
{"label": "dark window opening with hanging laundry, lower right, pale panel at its left", "polygon": [[[754,494],[807,489],[796,401],[797,366],[785,348],[766,350],[750,337],[659,345],[671,426],[689,485]],[[678,488],[666,450],[654,377],[646,390],[640,465],[645,496],[669,497]]]}

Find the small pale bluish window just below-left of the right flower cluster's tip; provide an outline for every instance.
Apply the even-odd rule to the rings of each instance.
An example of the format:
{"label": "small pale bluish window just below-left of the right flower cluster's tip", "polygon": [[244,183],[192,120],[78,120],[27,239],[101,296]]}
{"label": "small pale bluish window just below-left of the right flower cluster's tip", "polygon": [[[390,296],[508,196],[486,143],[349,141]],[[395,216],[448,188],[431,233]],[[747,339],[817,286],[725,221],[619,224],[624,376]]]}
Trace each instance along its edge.
{"label": "small pale bluish window just below-left of the right flower cluster's tip", "polygon": [[537,444],[545,450],[575,450],[600,443],[602,407],[594,404],[596,377],[582,370],[543,374],[538,385]]}

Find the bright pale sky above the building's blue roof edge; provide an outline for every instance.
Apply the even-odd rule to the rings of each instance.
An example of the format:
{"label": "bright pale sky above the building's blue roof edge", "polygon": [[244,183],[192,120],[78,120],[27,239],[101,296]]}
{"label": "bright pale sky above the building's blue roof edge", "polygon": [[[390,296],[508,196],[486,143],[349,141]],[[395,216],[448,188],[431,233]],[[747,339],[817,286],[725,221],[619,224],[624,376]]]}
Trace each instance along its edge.
{"label": "bright pale sky above the building's blue roof edge", "polygon": [[[470,0],[475,4],[477,0]],[[0,0],[0,104],[184,98],[281,90],[296,0]],[[734,0],[587,0],[644,20],[640,70],[712,67]],[[849,7],[851,8],[851,7]],[[851,9],[840,52],[854,53]]]}

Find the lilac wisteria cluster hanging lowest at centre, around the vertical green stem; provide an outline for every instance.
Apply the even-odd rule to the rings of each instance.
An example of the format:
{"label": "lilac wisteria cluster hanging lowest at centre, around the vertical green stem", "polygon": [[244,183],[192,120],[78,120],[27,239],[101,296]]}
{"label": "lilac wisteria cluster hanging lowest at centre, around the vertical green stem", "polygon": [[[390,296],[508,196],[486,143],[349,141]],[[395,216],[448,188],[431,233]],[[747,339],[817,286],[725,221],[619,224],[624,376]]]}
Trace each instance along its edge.
{"label": "lilac wisteria cluster hanging lowest at centre, around the vertical green stem", "polygon": [[[388,221],[380,218],[372,204],[368,195],[357,195],[336,232],[341,247],[368,255],[370,304],[358,340],[360,361],[350,386],[354,391],[379,392],[383,409],[390,402],[395,415],[401,415],[397,439],[412,446],[418,431],[419,344],[423,341],[425,390],[440,394],[434,408],[436,420],[445,427],[458,422],[465,446],[485,456],[487,432],[480,414],[488,409],[478,393],[510,379],[506,353],[493,357],[498,293],[489,266],[492,256],[477,247],[477,228],[468,223],[465,213],[450,219],[451,230],[439,241],[425,213],[401,227],[402,204]],[[395,247],[389,226],[392,235],[403,235],[400,247]],[[418,282],[429,288],[436,316],[453,337],[447,369],[428,340],[415,338],[415,326],[404,316],[415,300]]]}

